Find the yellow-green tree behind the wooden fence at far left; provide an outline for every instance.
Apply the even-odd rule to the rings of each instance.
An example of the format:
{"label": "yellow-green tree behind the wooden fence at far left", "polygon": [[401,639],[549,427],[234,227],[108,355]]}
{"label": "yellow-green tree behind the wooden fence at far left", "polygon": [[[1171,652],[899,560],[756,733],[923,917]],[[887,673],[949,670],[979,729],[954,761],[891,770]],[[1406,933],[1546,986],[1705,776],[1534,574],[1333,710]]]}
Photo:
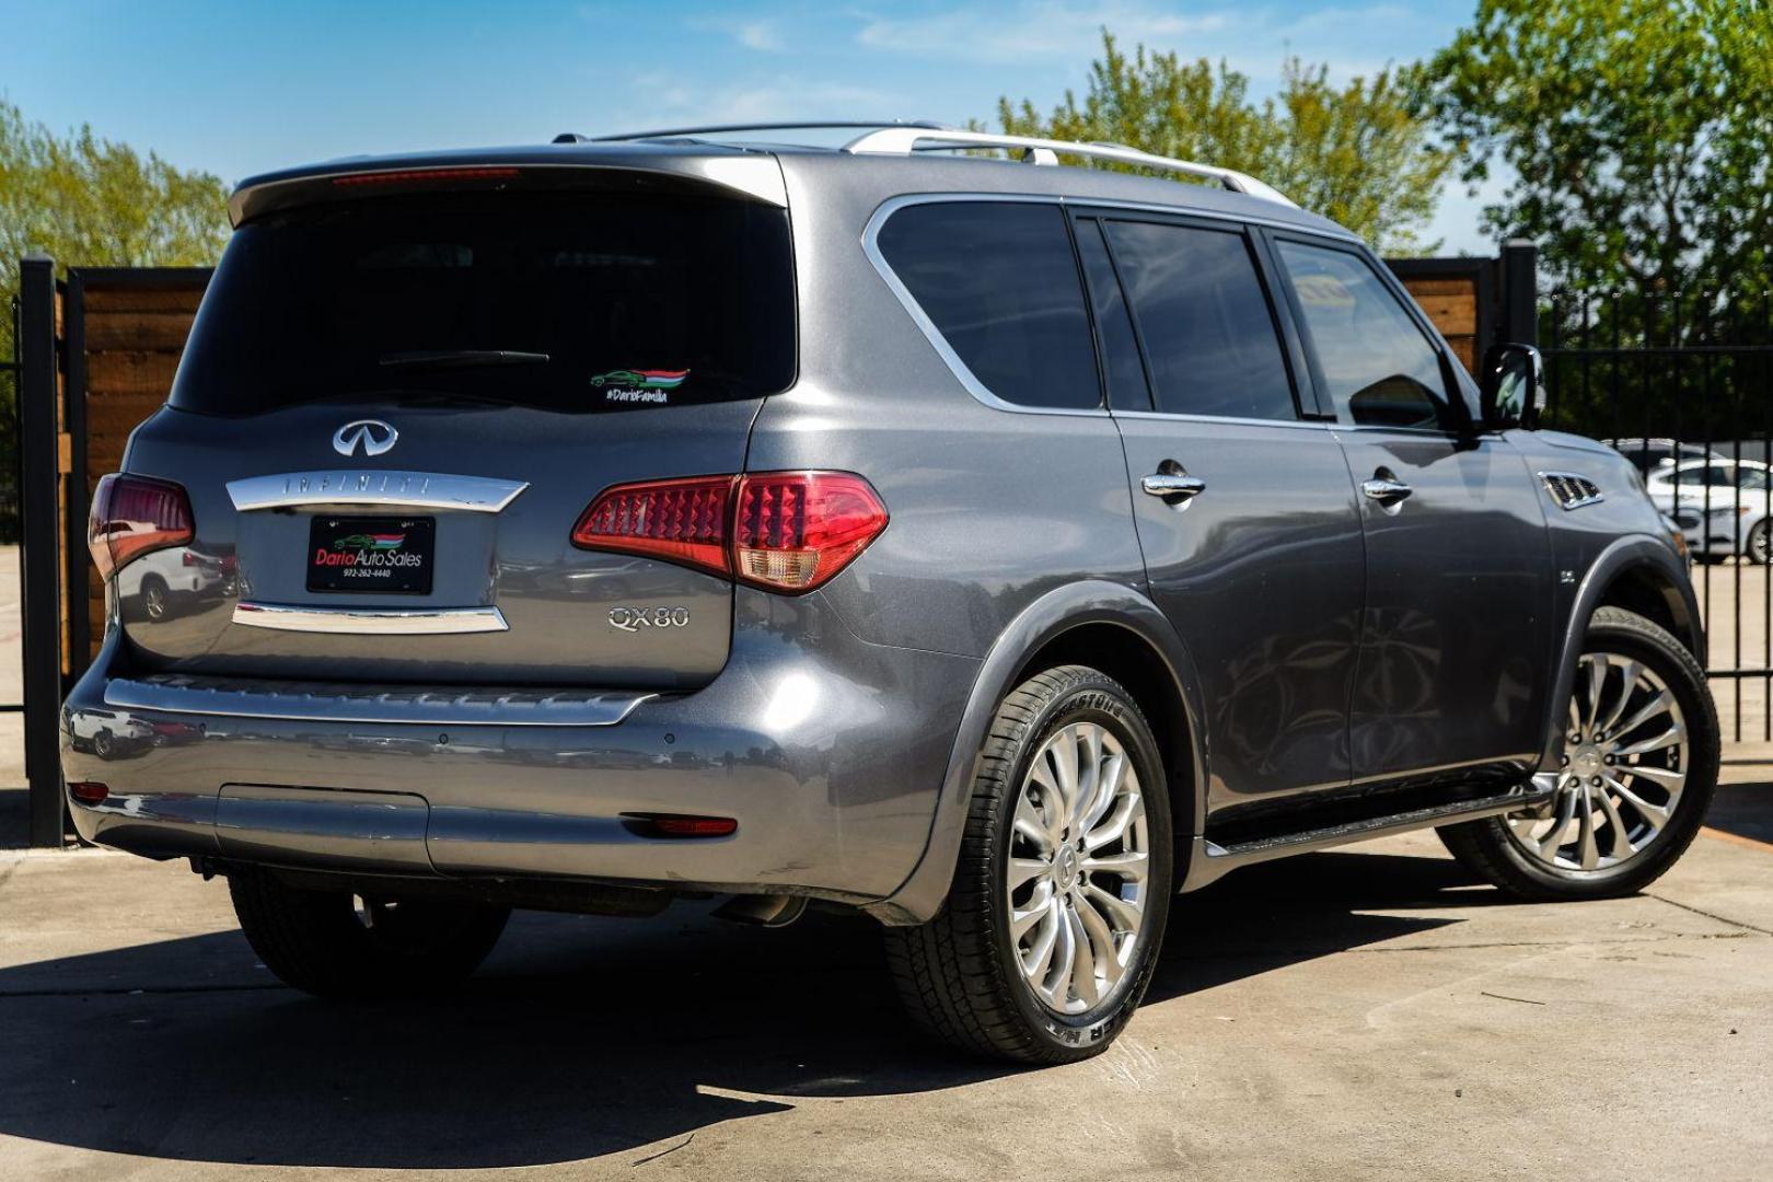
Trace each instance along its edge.
{"label": "yellow-green tree behind the wooden fence at far left", "polygon": [[[44,250],[74,266],[204,266],[227,241],[227,186],[82,126],[57,135],[0,99],[0,310],[18,259]],[[0,356],[12,319],[0,315]]]}

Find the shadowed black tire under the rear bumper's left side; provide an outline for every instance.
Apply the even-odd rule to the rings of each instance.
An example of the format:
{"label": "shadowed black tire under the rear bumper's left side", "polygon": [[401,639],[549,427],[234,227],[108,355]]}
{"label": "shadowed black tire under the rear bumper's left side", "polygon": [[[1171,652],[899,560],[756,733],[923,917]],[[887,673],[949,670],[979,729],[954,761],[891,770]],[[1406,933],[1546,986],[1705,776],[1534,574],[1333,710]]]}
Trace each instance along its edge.
{"label": "shadowed black tire under the rear bumper's left side", "polygon": [[319,998],[406,998],[459,985],[511,916],[489,904],[305,890],[259,867],[230,868],[229,893],[264,968]]}

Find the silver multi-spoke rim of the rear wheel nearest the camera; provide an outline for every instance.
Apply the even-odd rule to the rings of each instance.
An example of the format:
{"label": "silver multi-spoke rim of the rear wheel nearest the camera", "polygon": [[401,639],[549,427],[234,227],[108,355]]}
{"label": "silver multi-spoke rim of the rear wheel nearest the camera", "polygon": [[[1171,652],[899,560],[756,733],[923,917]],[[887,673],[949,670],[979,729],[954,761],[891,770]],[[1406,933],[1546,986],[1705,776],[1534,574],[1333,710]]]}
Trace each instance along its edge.
{"label": "silver multi-spoke rim of the rear wheel nearest the camera", "polygon": [[1016,794],[1009,930],[1034,996],[1083,1014],[1131,968],[1145,918],[1149,829],[1138,773],[1096,723],[1055,730]]}

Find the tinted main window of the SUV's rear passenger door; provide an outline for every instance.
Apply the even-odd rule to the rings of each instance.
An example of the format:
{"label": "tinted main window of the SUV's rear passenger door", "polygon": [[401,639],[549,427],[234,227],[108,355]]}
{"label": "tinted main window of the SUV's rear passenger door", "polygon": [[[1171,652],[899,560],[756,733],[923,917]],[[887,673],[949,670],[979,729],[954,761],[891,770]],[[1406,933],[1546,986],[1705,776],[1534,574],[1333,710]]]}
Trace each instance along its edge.
{"label": "tinted main window of the SUV's rear passenger door", "polygon": [[1280,330],[1236,230],[1105,222],[1160,411],[1298,418]]}

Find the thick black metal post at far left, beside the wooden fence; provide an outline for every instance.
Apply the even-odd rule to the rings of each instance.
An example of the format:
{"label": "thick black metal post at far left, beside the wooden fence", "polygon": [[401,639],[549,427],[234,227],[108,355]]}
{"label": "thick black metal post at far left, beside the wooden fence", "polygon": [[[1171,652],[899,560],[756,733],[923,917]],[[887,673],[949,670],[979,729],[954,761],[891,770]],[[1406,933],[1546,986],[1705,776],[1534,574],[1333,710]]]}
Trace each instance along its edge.
{"label": "thick black metal post at far left, beside the wooden fence", "polygon": [[25,780],[30,844],[60,845],[62,546],[60,439],[55,422],[55,262],[20,262],[18,333],[20,599],[25,640]]}

